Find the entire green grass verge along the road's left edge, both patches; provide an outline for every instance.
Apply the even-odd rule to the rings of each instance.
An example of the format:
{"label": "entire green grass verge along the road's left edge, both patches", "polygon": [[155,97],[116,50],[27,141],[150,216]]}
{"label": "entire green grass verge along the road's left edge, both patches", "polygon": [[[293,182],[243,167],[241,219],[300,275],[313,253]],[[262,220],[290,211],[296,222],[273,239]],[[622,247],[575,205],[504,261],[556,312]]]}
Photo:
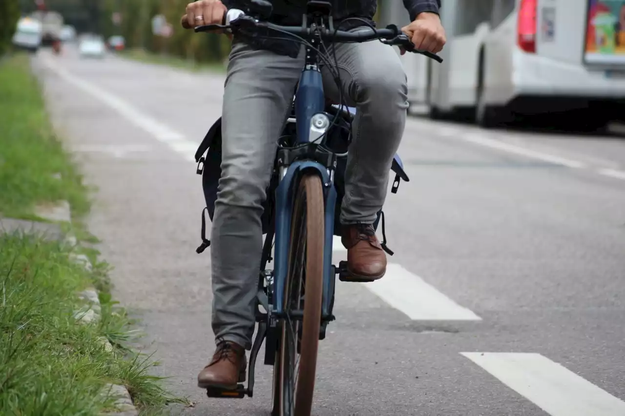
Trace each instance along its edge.
{"label": "entire green grass verge along the road's left edge, both patches", "polygon": [[[64,199],[73,224],[81,224],[87,189],[52,132],[27,56],[0,63],[0,127],[2,216],[30,218],[35,204]],[[94,240],[78,229],[79,240]],[[90,271],[68,250],[36,235],[0,232],[0,415],[99,415],[112,410],[113,399],[101,394],[108,383],[125,385],[142,415],[185,403],[149,374],[151,357],[127,346],[134,322],[111,298],[109,266],[97,261],[97,250],[84,250]],[[78,324],[74,312],[84,305],[76,294],[87,287],[99,290],[100,319]]]}

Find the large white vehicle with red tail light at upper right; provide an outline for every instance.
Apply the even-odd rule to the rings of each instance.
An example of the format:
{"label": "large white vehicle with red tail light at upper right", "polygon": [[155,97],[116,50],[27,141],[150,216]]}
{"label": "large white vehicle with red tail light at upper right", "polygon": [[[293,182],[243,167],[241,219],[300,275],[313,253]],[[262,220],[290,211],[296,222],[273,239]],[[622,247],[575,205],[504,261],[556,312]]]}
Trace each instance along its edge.
{"label": "large white vehicle with red tail light at upper right", "polygon": [[574,110],[562,121],[579,129],[622,117],[625,0],[444,0],[441,19],[443,64],[402,57],[409,99],[432,117],[464,112],[490,127],[512,112]]}

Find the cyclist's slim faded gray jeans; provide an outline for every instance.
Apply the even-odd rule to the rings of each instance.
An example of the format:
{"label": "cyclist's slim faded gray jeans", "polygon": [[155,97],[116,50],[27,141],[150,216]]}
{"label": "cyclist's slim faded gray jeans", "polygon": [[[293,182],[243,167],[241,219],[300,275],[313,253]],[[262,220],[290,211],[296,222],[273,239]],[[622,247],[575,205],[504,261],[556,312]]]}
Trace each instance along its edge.
{"label": "cyclist's slim faded gray jeans", "polygon": [[[407,111],[406,74],[391,46],[339,44],[342,93],[357,107],[347,157],[342,224],[371,223],[386,198],[392,158]],[[212,222],[212,330],[216,339],[251,348],[262,249],[261,214],[277,137],[304,64],[235,42],[222,113],[222,175]],[[324,70],[326,95],[339,90]]]}

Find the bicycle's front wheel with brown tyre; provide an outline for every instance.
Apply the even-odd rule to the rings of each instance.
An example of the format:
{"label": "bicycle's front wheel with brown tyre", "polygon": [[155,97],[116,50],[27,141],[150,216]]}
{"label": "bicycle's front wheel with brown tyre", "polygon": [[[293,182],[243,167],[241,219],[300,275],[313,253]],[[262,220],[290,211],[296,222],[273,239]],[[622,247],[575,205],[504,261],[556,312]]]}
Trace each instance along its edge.
{"label": "bicycle's front wheel with brown tyre", "polygon": [[289,272],[284,288],[287,317],[281,323],[280,362],[276,366],[279,374],[274,374],[280,377],[280,416],[311,414],[321,326],[323,250],[321,179],[314,174],[304,174],[291,219]]}

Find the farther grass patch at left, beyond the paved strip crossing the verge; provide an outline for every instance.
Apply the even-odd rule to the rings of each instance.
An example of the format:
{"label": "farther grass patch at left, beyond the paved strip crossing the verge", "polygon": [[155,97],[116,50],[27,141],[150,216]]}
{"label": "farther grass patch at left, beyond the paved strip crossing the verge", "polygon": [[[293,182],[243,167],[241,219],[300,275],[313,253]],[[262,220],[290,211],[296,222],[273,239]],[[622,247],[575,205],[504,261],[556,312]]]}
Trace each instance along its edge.
{"label": "farther grass patch at left, beyond the paved strip crossing the verge", "polygon": [[32,219],[36,204],[66,200],[73,215],[83,215],[86,189],[54,136],[28,59],[18,54],[0,64],[0,214]]}

